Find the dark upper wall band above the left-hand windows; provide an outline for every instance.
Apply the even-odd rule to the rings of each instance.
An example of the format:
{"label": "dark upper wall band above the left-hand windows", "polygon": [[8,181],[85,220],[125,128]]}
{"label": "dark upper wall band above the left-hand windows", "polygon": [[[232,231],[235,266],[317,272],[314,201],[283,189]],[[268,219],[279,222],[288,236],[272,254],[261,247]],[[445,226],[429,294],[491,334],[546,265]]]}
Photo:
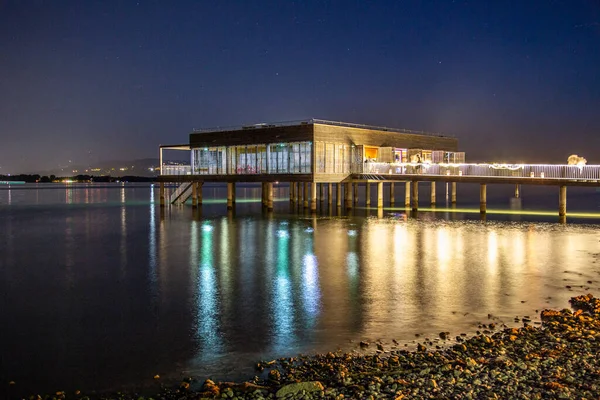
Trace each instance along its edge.
{"label": "dark upper wall band above the left-hand windows", "polygon": [[191,133],[190,147],[312,142],[313,126],[313,124],[302,124],[239,129],[234,131]]}

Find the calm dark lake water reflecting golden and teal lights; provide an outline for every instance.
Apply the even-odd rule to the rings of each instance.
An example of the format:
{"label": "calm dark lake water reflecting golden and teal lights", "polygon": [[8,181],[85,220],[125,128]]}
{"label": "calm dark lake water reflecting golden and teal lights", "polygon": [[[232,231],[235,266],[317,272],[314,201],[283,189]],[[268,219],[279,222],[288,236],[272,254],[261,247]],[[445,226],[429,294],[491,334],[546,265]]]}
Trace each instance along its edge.
{"label": "calm dark lake water reflecting golden and teal lights", "polygon": [[[457,209],[439,188],[414,218],[327,202],[312,216],[286,187],[269,214],[252,186],[235,214],[220,187],[198,212],[161,211],[149,185],[0,188],[0,381],[31,394],[251,378],[260,359],[472,333],[488,313],[535,320],[600,292],[600,194],[569,189],[581,216],[564,225],[558,191],[534,189],[480,221],[468,185]],[[488,186],[489,209],[510,210],[511,191]]]}

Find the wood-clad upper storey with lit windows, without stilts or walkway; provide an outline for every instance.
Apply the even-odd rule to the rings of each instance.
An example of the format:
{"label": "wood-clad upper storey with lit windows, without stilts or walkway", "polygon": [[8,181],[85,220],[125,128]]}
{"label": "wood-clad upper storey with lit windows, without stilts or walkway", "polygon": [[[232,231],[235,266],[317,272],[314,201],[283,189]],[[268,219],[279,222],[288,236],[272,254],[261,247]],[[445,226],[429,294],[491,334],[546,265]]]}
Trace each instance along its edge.
{"label": "wood-clad upper storey with lit windows, without stilts or walkway", "polygon": [[[302,161],[300,167],[298,160],[306,158],[301,156],[296,160],[293,154],[297,153],[295,147],[302,143],[310,146],[310,155],[307,154],[310,158],[306,157],[309,165]],[[194,175],[309,173],[316,181],[339,182],[353,172],[361,172],[367,158],[379,162],[398,162],[400,152],[403,152],[402,162],[406,162],[404,157],[411,152],[419,153],[424,159],[428,155],[432,158],[433,153],[436,153],[436,157],[437,153],[443,157],[444,154],[457,151],[458,140],[325,123],[302,123],[192,133],[190,148]],[[286,152],[280,162],[276,153],[283,150]],[[370,152],[369,156],[367,152]]]}

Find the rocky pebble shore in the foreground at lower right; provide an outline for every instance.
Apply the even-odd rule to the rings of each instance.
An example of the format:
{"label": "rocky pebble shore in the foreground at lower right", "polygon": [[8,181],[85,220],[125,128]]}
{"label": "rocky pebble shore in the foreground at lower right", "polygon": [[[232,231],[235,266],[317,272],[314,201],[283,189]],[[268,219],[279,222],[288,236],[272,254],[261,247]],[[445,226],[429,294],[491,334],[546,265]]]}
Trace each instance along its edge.
{"label": "rocky pebble shore in the foreground at lower right", "polygon": [[[600,398],[600,300],[573,297],[570,309],[544,310],[541,326],[483,324],[470,337],[439,334],[417,349],[369,355],[334,354],[257,364],[242,384],[191,380],[163,387],[153,396],[117,393],[86,396],[56,393],[56,399],[598,399]],[[361,343],[363,347],[369,346]],[[44,398],[44,397],[33,397]]]}

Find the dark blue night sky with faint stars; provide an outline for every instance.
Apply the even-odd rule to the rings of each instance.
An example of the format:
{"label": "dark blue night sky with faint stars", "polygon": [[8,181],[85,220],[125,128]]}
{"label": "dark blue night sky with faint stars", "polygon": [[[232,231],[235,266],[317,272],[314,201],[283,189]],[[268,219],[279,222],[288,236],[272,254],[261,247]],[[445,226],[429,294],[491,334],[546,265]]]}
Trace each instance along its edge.
{"label": "dark blue night sky with faint stars", "polygon": [[600,163],[600,1],[0,0],[0,174],[310,117]]}

